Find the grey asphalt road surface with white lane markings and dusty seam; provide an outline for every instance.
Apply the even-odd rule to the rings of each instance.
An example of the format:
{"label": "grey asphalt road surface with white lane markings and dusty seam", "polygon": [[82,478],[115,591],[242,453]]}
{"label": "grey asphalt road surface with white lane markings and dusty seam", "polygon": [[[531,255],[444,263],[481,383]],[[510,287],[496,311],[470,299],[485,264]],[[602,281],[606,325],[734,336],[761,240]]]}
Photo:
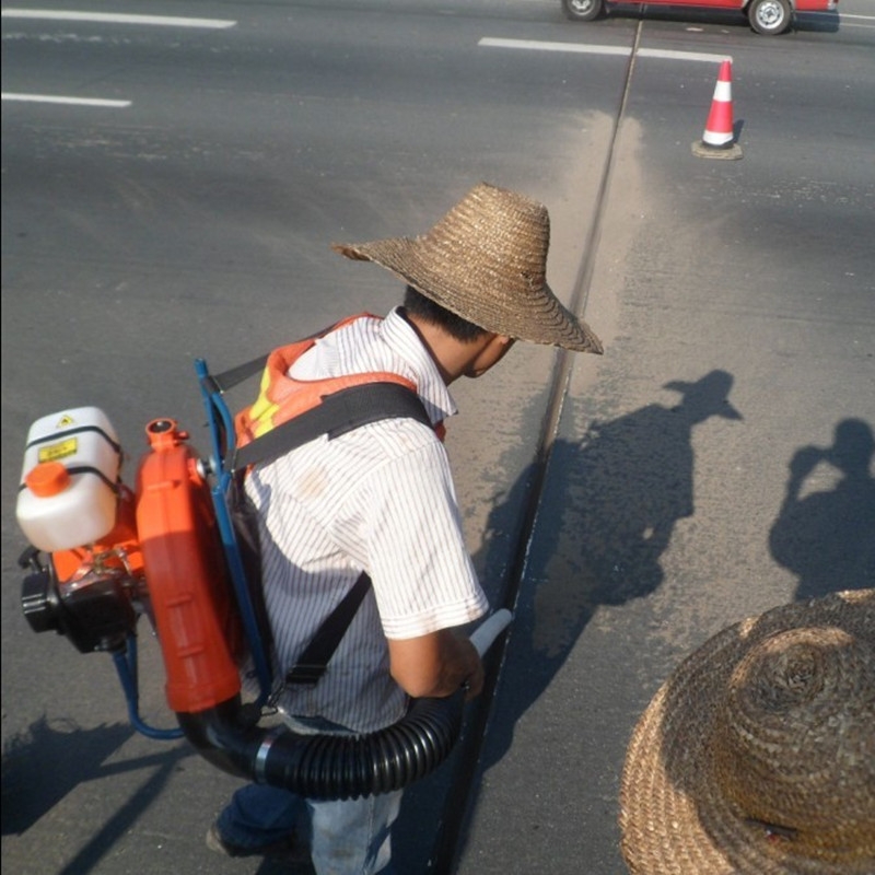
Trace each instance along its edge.
{"label": "grey asphalt road surface with white lane markings and dusty seam", "polygon": [[[425,231],[487,179],[547,203],[551,285],[607,351],[517,347],[454,392],[466,534],[516,620],[493,708],[411,788],[397,856],[625,872],[625,747],[677,661],[772,605],[875,585],[875,20],[840,5],[780,38],[635,8],[578,25],[540,0],[112,4],[195,26],[4,8],[4,866],[275,871],[203,848],[238,782],[133,734],[109,658],[22,618],[30,423],[100,406],[130,481],[148,420],[205,441],[194,358],[396,302],[329,242]],[[728,56],[744,155],[700,159]],[[167,726],[141,639],[141,710]]]}

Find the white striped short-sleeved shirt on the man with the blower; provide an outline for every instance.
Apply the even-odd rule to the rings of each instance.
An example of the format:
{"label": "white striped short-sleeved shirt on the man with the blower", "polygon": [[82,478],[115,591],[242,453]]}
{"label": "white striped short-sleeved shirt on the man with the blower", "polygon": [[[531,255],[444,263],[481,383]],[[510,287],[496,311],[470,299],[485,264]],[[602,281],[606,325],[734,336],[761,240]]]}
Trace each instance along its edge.
{"label": "white striped short-sleeved shirt on the man with the blower", "polygon": [[[440,372],[398,310],[329,334],[293,365],[296,380],[388,371],[417,385],[433,422],[456,412]],[[396,722],[407,697],[388,672],[386,638],[462,626],[488,609],[465,547],[443,444],[412,419],[322,436],[259,466],[246,481],[261,510],[264,588],[278,677],[362,570],[373,581],[315,686],[280,697],[290,715],[355,732]]]}

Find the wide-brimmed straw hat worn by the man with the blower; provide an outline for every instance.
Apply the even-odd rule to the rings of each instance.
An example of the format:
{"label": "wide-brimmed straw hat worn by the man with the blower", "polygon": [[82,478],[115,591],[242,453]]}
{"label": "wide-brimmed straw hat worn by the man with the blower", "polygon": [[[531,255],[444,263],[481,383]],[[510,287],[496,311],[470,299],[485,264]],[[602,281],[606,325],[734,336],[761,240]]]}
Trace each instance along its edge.
{"label": "wide-brimmed straw hat worn by the man with the blower", "polygon": [[422,236],[331,248],[387,268],[487,331],[600,354],[602,342],[590,326],[547,285],[549,243],[544,205],[481,183]]}

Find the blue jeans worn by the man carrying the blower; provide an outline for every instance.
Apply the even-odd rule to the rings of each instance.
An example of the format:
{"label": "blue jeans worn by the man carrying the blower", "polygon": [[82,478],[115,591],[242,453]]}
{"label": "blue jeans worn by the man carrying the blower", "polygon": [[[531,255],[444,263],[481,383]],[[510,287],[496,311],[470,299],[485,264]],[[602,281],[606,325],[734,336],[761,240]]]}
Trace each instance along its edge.
{"label": "blue jeans worn by the man carrying the blower", "polygon": [[244,848],[272,844],[298,830],[318,875],[393,875],[392,825],[402,791],[322,802],[282,788],[247,784],[219,815],[222,838]]}

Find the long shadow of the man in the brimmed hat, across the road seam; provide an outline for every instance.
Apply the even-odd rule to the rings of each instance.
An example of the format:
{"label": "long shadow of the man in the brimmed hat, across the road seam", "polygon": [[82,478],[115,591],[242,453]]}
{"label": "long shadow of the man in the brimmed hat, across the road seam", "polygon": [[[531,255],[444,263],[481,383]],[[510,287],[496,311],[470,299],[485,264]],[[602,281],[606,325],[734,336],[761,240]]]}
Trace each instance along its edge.
{"label": "long shadow of the man in the brimmed hat, across the road seam", "polygon": [[[476,796],[479,775],[505,755],[517,720],[550,685],[598,607],[645,596],[662,583],[660,560],[675,524],[693,513],[692,430],[711,417],[742,418],[728,401],[732,384],[725,371],[692,383],[673,381],[664,388],[679,393],[676,406],[651,404],[593,422],[580,441],[558,440],[530,538],[524,509],[540,479],[537,466],[523,472],[490,514],[475,563],[485,570],[493,607],[513,600],[512,592],[497,590],[513,590],[521,569],[523,583],[483,749],[477,749],[481,727],[475,726],[454,752],[435,873],[450,871],[464,832],[462,789]],[[524,561],[514,568],[508,552],[517,540]],[[494,665],[488,667],[494,672]],[[476,707],[485,710],[486,703],[478,700]],[[469,721],[474,716],[469,708]],[[411,790],[412,797],[428,792]]]}

